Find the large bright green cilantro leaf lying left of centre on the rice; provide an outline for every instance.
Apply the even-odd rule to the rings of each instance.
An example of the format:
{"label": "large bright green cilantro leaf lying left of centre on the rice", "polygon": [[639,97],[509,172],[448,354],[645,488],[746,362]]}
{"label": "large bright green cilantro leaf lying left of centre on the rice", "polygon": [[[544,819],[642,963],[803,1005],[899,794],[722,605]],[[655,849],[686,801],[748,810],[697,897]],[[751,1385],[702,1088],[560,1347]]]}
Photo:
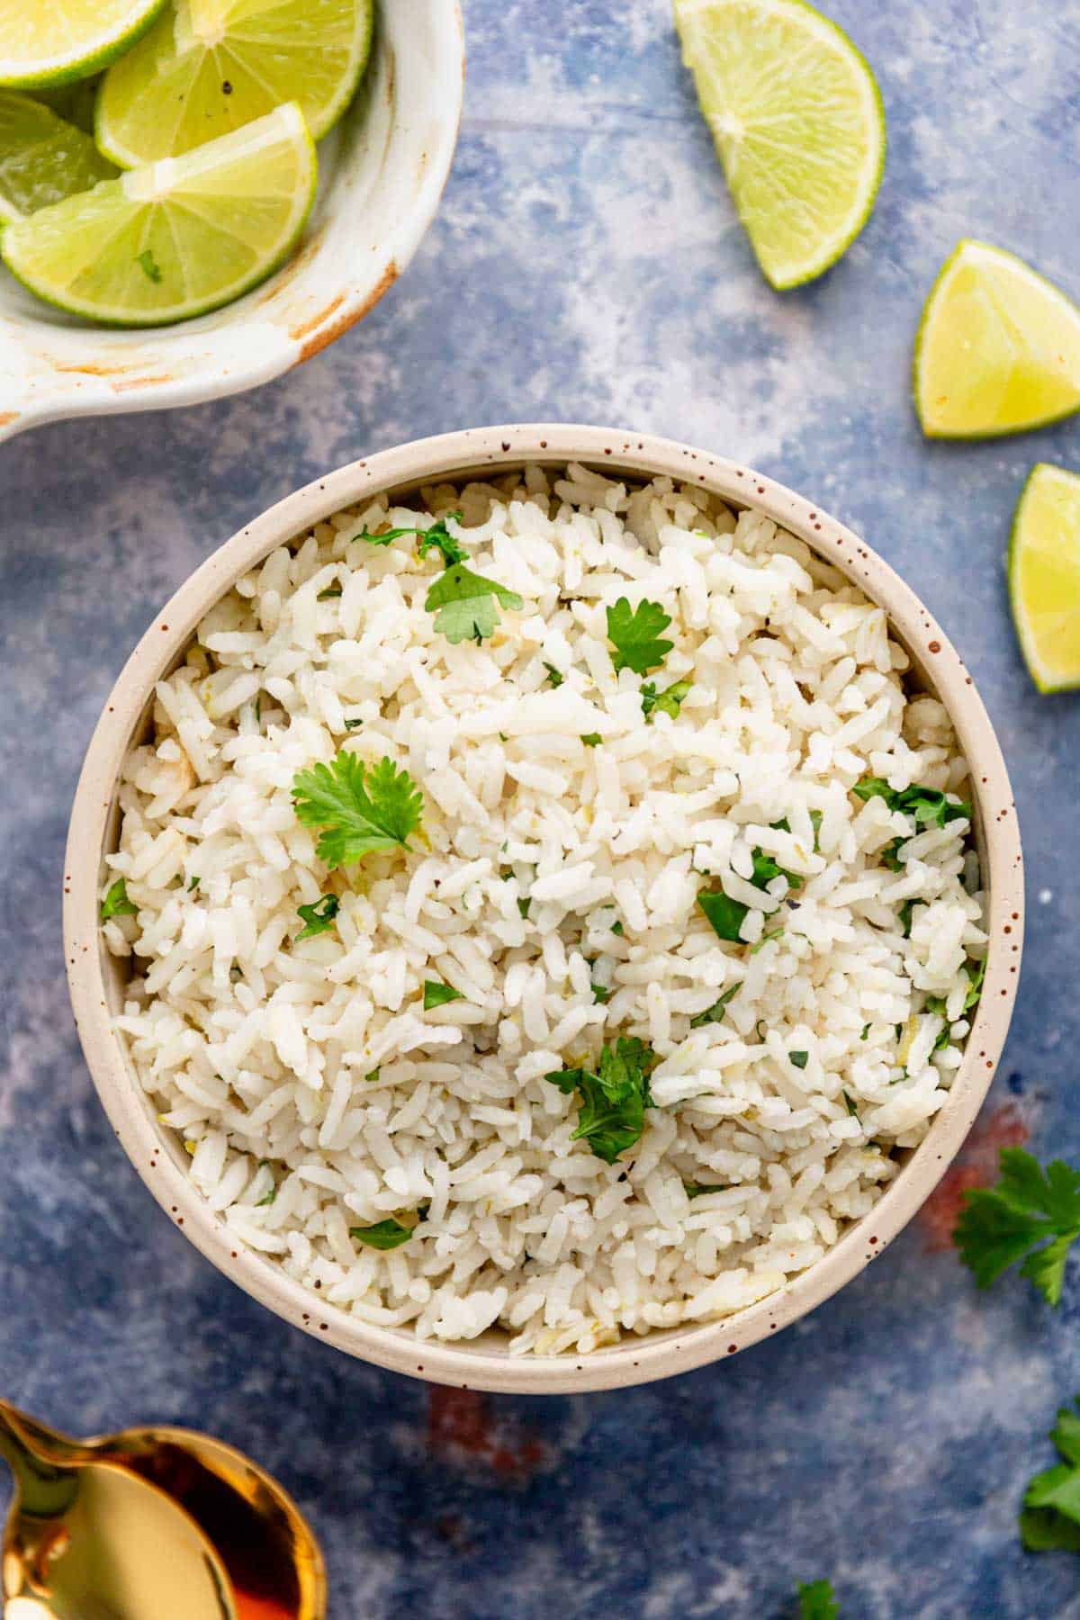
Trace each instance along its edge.
{"label": "large bright green cilantro leaf lying left of centre on the rice", "polygon": [[377,849],[408,849],[424,799],[408,771],[393,760],[364,765],[338,753],[293,778],[293,808],[304,826],[321,826],[316,854],[327,867],[347,867]]}

